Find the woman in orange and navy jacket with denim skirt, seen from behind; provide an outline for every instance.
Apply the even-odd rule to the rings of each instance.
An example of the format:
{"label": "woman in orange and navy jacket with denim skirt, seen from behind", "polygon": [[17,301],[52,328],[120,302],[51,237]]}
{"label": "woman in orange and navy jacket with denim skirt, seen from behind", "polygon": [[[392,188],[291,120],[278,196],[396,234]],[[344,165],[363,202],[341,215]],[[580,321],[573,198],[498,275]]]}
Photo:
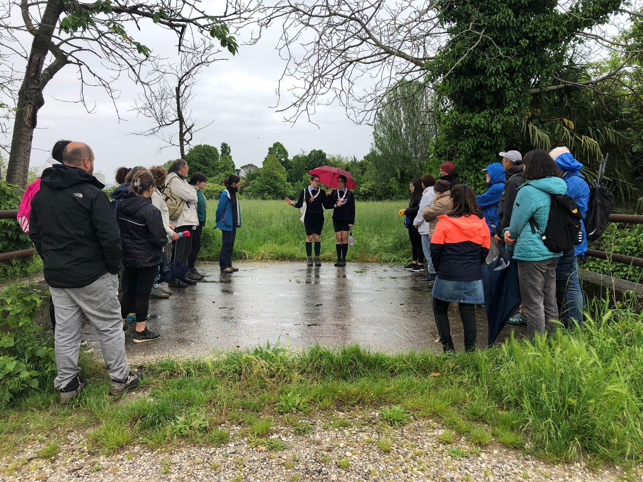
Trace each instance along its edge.
{"label": "woman in orange and navy jacket with denim skirt, seen from behind", "polygon": [[457,184],[450,193],[451,210],[438,216],[431,237],[431,260],[437,271],[433,315],[442,349],[453,352],[449,304],[458,303],[464,327],[464,349],[470,351],[476,347],[476,305],[484,303],[482,263],[489,254],[491,233],[469,186]]}

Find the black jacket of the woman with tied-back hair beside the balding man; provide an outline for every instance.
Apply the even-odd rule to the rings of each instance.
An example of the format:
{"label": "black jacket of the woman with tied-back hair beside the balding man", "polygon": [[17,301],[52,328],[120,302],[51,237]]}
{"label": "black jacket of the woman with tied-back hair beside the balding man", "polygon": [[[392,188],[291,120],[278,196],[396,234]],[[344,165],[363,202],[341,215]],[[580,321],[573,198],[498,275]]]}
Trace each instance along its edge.
{"label": "black jacket of the woman with tied-back hair beside the balding man", "polygon": [[161,263],[161,248],[167,243],[161,211],[148,197],[125,194],[118,205],[118,226],[123,264],[134,268]]}

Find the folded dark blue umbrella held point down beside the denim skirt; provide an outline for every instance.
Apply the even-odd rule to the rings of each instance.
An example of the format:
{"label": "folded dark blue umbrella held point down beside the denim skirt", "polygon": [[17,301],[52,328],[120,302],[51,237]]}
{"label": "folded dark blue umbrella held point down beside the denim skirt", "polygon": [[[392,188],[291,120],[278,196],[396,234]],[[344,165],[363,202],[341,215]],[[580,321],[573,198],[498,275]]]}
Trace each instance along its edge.
{"label": "folded dark blue umbrella held point down beside the denim skirt", "polygon": [[507,321],[522,302],[518,265],[507,254],[504,244],[498,243],[498,247],[500,254],[491,263],[482,267],[482,285],[489,323],[489,345],[493,345],[502,328],[507,325]]}

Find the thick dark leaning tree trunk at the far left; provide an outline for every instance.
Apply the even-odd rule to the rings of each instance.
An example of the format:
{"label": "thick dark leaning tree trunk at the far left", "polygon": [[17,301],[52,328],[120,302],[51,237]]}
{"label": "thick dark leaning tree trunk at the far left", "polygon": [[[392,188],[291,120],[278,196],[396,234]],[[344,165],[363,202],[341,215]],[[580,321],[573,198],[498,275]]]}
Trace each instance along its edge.
{"label": "thick dark leaning tree trunk at the far left", "polygon": [[[32,50],[24,73],[23,84],[18,91],[18,103],[15,112],[14,134],[11,141],[9,164],[6,169],[6,181],[25,187],[29,172],[29,159],[32,154],[33,130],[36,127],[38,111],[44,105],[42,91],[54,73],[64,66],[64,60],[58,56],[53,62],[53,69],[43,74],[44,61],[49,54],[51,36],[62,12],[62,2],[49,0],[42,13],[38,28],[34,28]],[[21,5],[28,8],[23,1]],[[28,13],[27,13],[28,15]],[[23,15],[24,16],[24,15]],[[50,66],[51,67],[51,66]]]}

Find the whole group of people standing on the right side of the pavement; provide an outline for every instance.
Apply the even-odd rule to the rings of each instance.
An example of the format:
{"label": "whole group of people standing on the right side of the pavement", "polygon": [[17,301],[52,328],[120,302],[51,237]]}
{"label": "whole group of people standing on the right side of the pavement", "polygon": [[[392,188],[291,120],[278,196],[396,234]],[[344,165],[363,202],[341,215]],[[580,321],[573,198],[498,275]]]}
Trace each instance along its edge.
{"label": "whole group of people standing on the right side of the pavement", "polygon": [[[430,174],[410,183],[411,199],[404,224],[409,230],[411,271],[428,270],[418,281],[433,282],[433,312],[445,351],[454,349],[448,305],[458,303],[464,326],[464,346],[476,343],[475,305],[484,305],[482,265],[502,249],[516,260],[523,305],[514,323],[527,323],[527,334],[544,334],[556,321],[565,326],[583,323],[583,292],[578,257],[587,250],[583,220],[590,188],[579,172],[583,165],[570,150],[548,153],[531,150],[500,152],[502,163],[484,172],[487,191],[475,195],[458,181],[452,163],[440,166],[440,177]],[[566,252],[550,251],[543,240],[552,195],[569,195],[581,215],[581,239]]]}

